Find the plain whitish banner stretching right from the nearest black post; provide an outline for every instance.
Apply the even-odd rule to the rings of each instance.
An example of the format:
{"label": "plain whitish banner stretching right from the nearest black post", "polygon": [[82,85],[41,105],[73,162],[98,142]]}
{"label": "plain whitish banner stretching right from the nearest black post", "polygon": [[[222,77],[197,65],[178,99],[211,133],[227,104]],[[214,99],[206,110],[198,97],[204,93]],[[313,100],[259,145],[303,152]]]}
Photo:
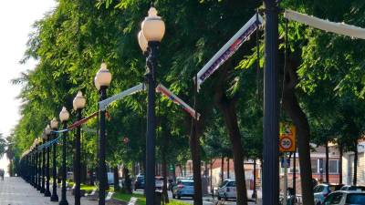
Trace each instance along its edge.
{"label": "plain whitish banner stretching right from the nearest black post", "polygon": [[285,11],[284,17],[288,20],[297,21],[299,23],[335,34],[365,39],[365,29],[358,26],[330,22],[315,16],[300,14],[289,9]]}

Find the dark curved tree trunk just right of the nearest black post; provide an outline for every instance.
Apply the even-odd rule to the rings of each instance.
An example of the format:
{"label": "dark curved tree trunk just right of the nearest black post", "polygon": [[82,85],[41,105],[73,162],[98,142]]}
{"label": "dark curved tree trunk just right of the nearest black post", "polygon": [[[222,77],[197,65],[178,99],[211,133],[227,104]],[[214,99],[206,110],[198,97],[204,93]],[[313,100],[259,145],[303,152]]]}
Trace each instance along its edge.
{"label": "dark curved tree trunk just right of the nearest black post", "polygon": [[288,116],[293,120],[294,125],[297,127],[297,150],[299,154],[303,205],[314,205],[308,118],[302,108],[300,108],[295,95],[295,88],[297,87],[297,67],[293,62],[288,62],[288,64],[284,79],[282,102]]}

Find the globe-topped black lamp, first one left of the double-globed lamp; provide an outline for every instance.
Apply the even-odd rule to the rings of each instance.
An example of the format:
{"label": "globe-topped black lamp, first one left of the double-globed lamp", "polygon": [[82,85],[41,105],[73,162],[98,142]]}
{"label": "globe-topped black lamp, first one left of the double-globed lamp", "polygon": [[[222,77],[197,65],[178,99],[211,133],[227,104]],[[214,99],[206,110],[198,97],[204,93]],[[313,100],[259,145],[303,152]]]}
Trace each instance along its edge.
{"label": "globe-topped black lamp, first one left of the double-globed lamp", "polygon": [[[94,78],[95,87],[99,90],[99,101],[107,98],[107,88],[110,87],[111,74],[105,63],[102,63]],[[100,110],[99,118],[99,205],[105,204],[105,188],[107,186],[107,167],[105,165],[105,110]]]}

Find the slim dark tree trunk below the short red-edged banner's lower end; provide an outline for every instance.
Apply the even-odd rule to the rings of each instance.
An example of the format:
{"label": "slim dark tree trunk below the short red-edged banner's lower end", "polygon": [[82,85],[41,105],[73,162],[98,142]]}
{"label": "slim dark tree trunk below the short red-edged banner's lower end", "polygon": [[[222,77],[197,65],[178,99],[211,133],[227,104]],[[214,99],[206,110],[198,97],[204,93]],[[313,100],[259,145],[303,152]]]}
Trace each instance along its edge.
{"label": "slim dark tree trunk below the short red-edged banner's lower end", "polygon": [[193,159],[193,181],[194,181],[193,204],[203,205],[200,144],[199,144],[199,137],[196,131],[196,123],[193,123],[192,127],[193,129],[190,135],[190,151]]}

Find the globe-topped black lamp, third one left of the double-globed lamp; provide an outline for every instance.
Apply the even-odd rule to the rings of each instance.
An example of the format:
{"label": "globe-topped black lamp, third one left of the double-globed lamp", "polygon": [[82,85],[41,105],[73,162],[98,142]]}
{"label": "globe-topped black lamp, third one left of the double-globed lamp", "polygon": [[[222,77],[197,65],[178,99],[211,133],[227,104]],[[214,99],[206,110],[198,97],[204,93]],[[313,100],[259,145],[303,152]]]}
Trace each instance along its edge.
{"label": "globe-topped black lamp, third one left of the double-globed lamp", "polygon": [[[61,112],[59,113],[59,120],[63,124],[63,129],[68,128],[68,118],[69,113],[68,109],[63,107]],[[59,205],[68,205],[68,199],[66,198],[66,143],[67,143],[68,132],[65,131],[63,133],[62,138],[62,192],[61,192],[61,200],[59,201]]]}

